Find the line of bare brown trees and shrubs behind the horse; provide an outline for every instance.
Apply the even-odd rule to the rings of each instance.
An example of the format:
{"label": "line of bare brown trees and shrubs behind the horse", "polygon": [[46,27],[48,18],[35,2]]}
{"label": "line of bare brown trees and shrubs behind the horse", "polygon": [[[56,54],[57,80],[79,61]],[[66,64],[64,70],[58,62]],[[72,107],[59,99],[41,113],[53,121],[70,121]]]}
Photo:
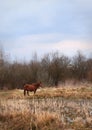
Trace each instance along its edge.
{"label": "line of bare brown trees and shrubs behind the horse", "polygon": [[77,52],[72,58],[59,52],[41,59],[37,54],[27,62],[9,62],[0,50],[0,89],[23,88],[25,83],[41,81],[45,86],[58,86],[67,80],[92,82],[92,57]]}

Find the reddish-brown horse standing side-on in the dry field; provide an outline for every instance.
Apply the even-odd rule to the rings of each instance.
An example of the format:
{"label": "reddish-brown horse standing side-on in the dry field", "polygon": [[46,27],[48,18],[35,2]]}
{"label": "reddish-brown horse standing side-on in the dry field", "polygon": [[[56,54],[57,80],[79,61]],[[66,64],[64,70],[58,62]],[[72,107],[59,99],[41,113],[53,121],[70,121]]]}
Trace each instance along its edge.
{"label": "reddish-brown horse standing side-on in the dry field", "polygon": [[24,96],[26,95],[26,91],[27,91],[27,95],[29,96],[29,91],[32,92],[34,91],[34,94],[36,93],[36,90],[42,87],[42,83],[38,82],[38,83],[33,83],[33,84],[25,84],[24,85]]}

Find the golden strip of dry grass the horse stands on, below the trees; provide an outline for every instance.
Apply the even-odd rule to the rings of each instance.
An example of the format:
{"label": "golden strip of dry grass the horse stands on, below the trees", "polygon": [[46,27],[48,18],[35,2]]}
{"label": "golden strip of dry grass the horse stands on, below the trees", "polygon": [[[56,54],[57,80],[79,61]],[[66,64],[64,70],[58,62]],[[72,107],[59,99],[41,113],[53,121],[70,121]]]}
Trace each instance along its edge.
{"label": "golden strip of dry grass the horse stands on, below the trees", "polygon": [[[33,93],[30,92],[30,96],[24,97],[23,90],[5,90],[0,91],[0,97],[7,99],[24,99],[33,98]],[[35,98],[47,98],[47,97],[63,97],[66,99],[92,99],[92,84],[90,85],[77,85],[74,86],[60,86],[58,88],[41,88],[37,90]]]}

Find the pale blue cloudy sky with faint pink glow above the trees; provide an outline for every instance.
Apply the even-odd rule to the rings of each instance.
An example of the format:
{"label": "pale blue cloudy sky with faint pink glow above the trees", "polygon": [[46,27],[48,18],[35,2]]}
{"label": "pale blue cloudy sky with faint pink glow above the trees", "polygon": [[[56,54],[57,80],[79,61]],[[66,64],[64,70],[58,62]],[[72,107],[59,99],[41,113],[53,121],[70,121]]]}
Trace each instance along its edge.
{"label": "pale blue cloudy sky with faint pink glow above the trees", "polygon": [[92,53],[92,0],[0,0],[0,44],[12,60]]}

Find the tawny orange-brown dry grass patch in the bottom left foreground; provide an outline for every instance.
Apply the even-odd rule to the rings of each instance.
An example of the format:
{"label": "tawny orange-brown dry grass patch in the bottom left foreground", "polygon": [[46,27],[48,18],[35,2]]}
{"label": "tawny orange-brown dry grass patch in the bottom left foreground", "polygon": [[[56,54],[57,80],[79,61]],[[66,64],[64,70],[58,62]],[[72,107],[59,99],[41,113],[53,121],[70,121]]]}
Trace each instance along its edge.
{"label": "tawny orange-brown dry grass patch in the bottom left foreground", "polygon": [[[59,128],[58,119],[50,113],[31,114],[20,113],[13,115],[0,116],[0,130],[53,130]],[[58,126],[58,127],[57,127]]]}

